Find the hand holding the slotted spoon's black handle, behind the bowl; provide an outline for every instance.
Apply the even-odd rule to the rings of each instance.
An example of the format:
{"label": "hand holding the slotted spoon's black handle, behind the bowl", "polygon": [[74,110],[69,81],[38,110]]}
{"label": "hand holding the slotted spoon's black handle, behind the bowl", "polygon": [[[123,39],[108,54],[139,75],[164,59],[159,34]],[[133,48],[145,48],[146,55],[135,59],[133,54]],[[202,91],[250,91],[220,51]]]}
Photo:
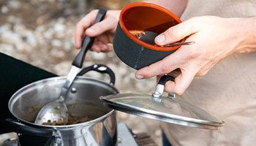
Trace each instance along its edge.
{"label": "hand holding the slotted spoon's black handle, behind the bowl", "polygon": [[76,48],[79,49],[82,46],[83,38],[87,35],[89,37],[96,37],[91,50],[97,53],[113,50],[113,47],[108,45],[108,43],[113,42],[120,10],[108,10],[102,21],[91,26],[98,11],[98,9],[92,10],[77,23],[75,31]]}

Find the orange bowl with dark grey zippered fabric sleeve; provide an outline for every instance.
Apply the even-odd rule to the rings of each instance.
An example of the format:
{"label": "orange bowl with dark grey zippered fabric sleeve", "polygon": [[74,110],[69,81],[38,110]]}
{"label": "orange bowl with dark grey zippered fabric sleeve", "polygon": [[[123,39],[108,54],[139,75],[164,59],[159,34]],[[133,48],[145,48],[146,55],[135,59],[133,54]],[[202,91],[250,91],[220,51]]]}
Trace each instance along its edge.
{"label": "orange bowl with dark grey zippered fabric sleeve", "polygon": [[[178,23],[181,23],[181,20],[164,7],[146,2],[128,4],[121,10],[113,39],[113,49],[118,58],[128,66],[133,69],[143,68],[162,60],[180,46],[150,45],[135,37],[135,32],[151,31],[161,34]],[[184,41],[185,39],[181,40]]]}

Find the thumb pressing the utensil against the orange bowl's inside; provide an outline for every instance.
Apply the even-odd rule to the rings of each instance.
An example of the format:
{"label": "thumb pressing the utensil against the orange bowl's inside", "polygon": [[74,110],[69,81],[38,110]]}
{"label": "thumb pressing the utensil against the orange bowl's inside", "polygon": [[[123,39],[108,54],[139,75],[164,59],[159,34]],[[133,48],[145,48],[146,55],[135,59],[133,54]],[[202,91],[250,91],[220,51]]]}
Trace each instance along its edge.
{"label": "thumb pressing the utensil against the orange bowl's inside", "polygon": [[168,45],[173,42],[178,42],[197,31],[195,25],[192,24],[191,20],[187,20],[176,26],[170,27],[167,31],[159,34],[154,41],[157,45]]}

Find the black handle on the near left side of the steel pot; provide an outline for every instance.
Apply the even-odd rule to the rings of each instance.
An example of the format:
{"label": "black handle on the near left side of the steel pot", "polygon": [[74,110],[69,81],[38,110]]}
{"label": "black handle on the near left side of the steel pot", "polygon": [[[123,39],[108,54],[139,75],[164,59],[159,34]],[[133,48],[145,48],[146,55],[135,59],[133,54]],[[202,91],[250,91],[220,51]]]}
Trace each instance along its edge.
{"label": "black handle on the near left side of the steel pot", "polygon": [[39,137],[53,137],[53,131],[50,129],[41,129],[34,128],[31,126],[26,126],[23,123],[19,123],[17,120],[13,120],[11,118],[5,119],[5,121],[10,125],[12,131],[19,134],[32,134]]}

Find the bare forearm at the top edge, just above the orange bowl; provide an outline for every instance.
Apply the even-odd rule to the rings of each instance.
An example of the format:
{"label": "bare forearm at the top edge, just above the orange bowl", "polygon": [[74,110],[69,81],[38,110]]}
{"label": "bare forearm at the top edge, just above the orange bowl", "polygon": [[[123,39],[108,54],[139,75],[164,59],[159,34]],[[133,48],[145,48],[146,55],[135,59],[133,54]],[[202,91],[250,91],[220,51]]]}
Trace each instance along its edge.
{"label": "bare forearm at the top edge, just above the orange bowl", "polygon": [[187,1],[188,0],[146,0],[145,2],[151,2],[165,7],[180,18],[187,7]]}

